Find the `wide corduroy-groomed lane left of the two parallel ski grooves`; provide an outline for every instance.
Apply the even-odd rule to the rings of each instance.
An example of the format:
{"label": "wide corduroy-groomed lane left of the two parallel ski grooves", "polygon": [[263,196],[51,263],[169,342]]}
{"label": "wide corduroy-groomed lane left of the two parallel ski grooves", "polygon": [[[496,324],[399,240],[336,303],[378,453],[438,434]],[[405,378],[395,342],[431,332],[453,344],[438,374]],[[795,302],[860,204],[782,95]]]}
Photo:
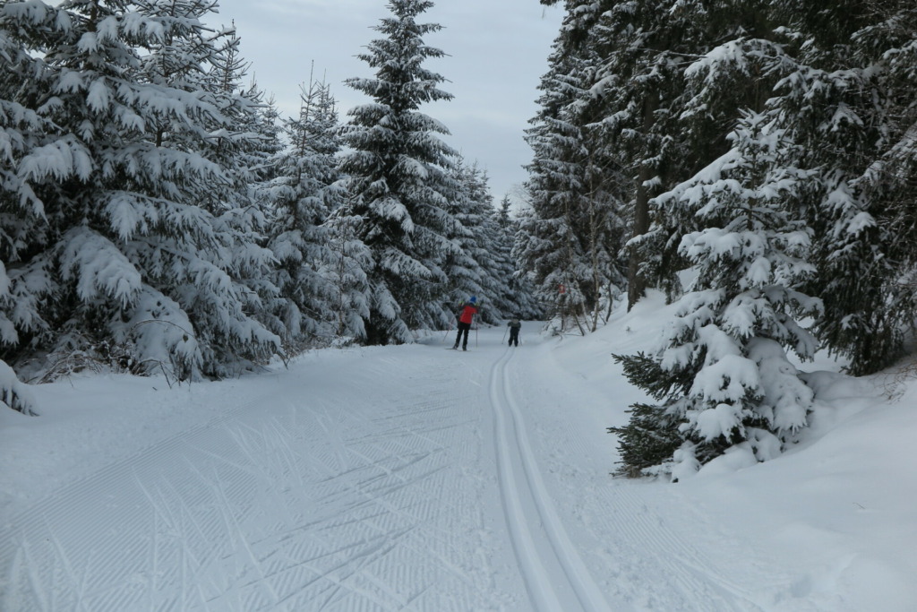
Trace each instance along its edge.
{"label": "wide corduroy-groomed lane left of the two parallel ski grooves", "polygon": [[243,406],[61,489],[0,540],[0,609],[499,609],[441,373]]}

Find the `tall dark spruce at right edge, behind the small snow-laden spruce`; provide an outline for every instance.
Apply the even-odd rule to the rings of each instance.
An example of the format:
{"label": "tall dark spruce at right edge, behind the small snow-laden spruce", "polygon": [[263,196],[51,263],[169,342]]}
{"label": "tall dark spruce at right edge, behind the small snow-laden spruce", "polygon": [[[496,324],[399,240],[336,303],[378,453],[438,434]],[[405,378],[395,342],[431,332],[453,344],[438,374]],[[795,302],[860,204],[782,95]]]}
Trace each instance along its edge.
{"label": "tall dark spruce at right edge, behind the small snow-laden spruce", "polygon": [[777,3],[800,42],[775,106],[818,171],[802,200],[819,269],[807,291],[825,297],[814,329],[850,373],[873,373],[900,357],[915,317],[917,9],[802,4]]}

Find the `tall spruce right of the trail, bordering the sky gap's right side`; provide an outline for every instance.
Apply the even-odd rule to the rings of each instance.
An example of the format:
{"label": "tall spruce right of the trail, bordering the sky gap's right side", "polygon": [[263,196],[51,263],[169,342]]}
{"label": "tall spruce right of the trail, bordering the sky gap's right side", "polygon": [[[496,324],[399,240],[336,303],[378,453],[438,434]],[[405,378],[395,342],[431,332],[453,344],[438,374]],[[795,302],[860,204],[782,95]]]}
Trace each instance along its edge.
{"label": "tall spruce right of the trail, bordering the sky gap's right side", "polygon": [[553,305],[560,328],[594,330],[607,296],[620,291],[617,252],[624,221],[613,196],[620,184],[600,153],[593,120],[601,115],[590,88],[598,58],[584,44],[597,18],[594,3],[570,2],[561,35],[542,78],[539,114],[526,132],[534,158],[528,184],[533,215],[523,223],[523,265],[538,297]]}

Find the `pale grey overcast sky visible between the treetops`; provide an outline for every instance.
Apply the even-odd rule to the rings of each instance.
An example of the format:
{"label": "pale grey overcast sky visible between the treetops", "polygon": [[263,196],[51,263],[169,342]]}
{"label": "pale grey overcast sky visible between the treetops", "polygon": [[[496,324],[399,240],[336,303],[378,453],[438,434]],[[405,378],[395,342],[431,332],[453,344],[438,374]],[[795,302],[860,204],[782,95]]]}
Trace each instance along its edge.
{"label": "pale grey overcast sky visible between the treetops", "polygon": [[[371,77],[370,66],[355,56],[372,39],[371,29],[390,15],[387,0],[219,0],[210,25],[236,21],[242,55],[262,89],[273,94],[285,116],[299,108],[300,83],[315,73],[332,85],[342,119],[370,99],[343,84],[349,77]],[[536,113],[536,87],[547,70],[547,56],[563,11],[538,0],[437,0],[418,18],[443,29],[425,43],[448,57],[425,66],[442,74],[450,102],[421,107],[446,124],[447,143],[468,161],[478,161],[491,178],[499,202],[525,181],[522,164],[532,153],[523,140]],[[208,20],[209,20],[208,19]]]}

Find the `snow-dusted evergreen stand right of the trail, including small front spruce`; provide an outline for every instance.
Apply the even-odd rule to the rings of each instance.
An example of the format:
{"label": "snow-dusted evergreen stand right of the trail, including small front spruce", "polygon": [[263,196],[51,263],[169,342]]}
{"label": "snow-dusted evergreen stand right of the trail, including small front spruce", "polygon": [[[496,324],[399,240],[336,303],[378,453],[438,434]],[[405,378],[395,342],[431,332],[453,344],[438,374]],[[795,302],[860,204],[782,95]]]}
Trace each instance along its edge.
{"label": "snow-dusted evergreen stand right of the trail, including small front spruce", "polygon": [[[702,464],[742,441],[764,461],[808,425],[812,389],[788,351],[824,348],[874,373],[913,327],[917,8],[562,4],[528,132],[526,266],[543,298],[563,284],[588,307],[589,272],[611,276],[623,252],[629,306],[646,287],[680,301],[658,352],[615,358],[658,401],[610,429],[622,473],[671,464],[676,449],[675,462]],[[599,266],[584,203],[632,237]]]}

